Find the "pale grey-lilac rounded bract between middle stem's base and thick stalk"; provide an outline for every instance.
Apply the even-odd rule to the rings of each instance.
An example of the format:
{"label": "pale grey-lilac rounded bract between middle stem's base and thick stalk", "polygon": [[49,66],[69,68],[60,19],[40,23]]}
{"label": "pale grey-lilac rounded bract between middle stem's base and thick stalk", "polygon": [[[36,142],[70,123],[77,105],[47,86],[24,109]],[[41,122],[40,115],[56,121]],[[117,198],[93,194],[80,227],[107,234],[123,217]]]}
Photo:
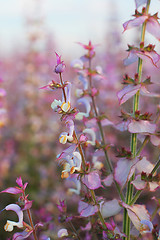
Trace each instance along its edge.
{"label": "pale grey-lilac rounded bract between middle stem's base and thick stalk", "polygon": [[118,200],[113,199],[102,204],[101,213],[104,218],[108,218],[118,214],[121,209]]}

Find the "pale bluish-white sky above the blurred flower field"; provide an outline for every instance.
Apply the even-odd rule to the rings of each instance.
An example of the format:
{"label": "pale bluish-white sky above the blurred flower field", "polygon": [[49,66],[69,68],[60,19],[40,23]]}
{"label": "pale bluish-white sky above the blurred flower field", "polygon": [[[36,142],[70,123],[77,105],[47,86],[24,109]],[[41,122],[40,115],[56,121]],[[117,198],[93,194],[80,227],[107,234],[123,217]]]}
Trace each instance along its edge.
{"label": "pale bluish-white sky above the blurred flower field", "polygon": [[[112,19],[122,24],[134,14],[134,0],[0,0],[0,52],[24,48],[25,16],[37,13],[44,17],[45,28],[53,34],[58,52],[73,55],[75,42],[104,44]],[[160,11],[160,1],[151,1],[151,12]],[[116,16],[114,16],[116,15]],[[132,30],[131,30],[132,31]],[[126,36],[123,36],[124,39]]]}

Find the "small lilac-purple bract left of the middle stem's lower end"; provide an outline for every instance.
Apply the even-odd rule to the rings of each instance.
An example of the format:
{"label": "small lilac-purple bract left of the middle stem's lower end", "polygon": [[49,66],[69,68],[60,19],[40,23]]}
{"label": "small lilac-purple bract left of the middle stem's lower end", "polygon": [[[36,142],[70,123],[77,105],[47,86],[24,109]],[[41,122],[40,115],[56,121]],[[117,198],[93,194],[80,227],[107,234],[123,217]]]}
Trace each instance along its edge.
{"label": "small lilac-purple bract left of the middle stem's lower end", "polygon": [[81,217],[89,217],[98,212],[98,207],[95,205],[90,205],[86,202],[80,201],[78,206],[78,212]]}

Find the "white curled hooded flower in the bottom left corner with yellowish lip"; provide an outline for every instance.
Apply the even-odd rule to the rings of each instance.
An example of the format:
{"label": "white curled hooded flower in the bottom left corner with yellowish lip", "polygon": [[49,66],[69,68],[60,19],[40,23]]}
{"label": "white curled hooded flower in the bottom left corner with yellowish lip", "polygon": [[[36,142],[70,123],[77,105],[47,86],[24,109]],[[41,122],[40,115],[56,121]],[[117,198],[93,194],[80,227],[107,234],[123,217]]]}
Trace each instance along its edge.
{"label": "white curled hooded flower in the bottom left corner with yellowish lip", "polygon": [[22,228],[23,227],[23,211],[21,210],[21,208],[17,204],[9,204],[8,206],[5,207],[5,210],[7,211],[11,210],[16,212],[18,215],[19,221],[14,222],[14,221],[7,220],[7,223],[4,226],[4,230],[7,232],[11,232],[13,231],[14,226]]}

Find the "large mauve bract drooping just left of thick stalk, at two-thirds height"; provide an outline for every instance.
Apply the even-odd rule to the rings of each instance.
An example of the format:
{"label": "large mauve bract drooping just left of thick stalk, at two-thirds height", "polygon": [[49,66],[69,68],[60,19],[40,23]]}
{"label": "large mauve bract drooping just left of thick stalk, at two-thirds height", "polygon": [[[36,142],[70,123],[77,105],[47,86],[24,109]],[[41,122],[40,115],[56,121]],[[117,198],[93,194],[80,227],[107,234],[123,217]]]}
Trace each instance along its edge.
{"label": "large mauve bract drooping just left of thick stalk, at two-thirds height", "polygon": [[127,182],[127,178],[131,167],[134,165],[135,160],[129,160],[126,158],[120,159],[115,168],[114,177],[116,182],[121,186],[124,186]]}

